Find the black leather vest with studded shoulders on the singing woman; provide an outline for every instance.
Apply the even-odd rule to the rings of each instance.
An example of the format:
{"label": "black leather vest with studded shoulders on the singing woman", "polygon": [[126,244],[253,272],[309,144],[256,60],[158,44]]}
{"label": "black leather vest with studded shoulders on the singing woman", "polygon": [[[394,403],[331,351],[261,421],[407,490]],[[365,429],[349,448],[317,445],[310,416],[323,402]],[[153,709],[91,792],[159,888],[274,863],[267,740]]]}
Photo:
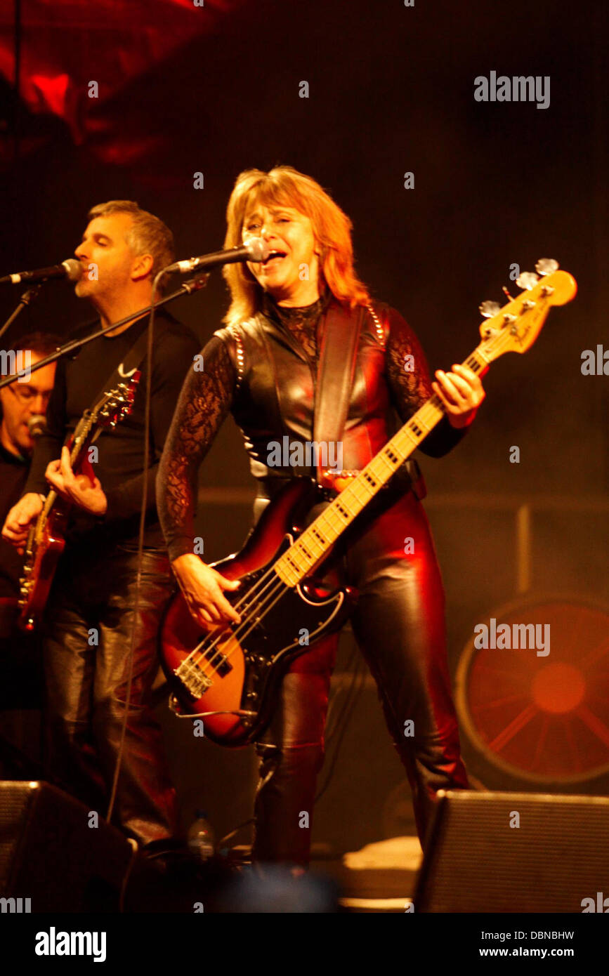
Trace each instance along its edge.
{"label": "black leather vest with studded shoulders on the singing woman", "polygon": [[[343,433],[345,470],[364,468],[397,428],[385,372],[390,312],[375,303],[374,314],[369,306],[362,322]],[[354,320],[357,309],[350,314]],[[270,452],[279,443],[285,462],[287,445],[301,442],[306,461],[305,445],[313,439],[317,363],[270,310],[215,335],[227,346],[237,376],[231,413],[245,438],[252,474],[266,485],[297,474],[314,477],[314,460],[303,466],[277,464],[277,452]]]}

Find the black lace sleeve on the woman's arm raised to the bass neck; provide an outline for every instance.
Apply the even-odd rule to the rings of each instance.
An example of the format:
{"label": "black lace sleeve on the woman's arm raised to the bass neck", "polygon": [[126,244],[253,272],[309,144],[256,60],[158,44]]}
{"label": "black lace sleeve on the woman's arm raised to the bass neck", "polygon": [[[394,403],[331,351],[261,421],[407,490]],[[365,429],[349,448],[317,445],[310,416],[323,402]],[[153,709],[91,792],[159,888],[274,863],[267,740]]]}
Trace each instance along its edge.
{"label": "black lace sleeve on the woman's arm raised to the bass neck", "polygon": [[[389,335],[386,346],[387,382],[393,406],[402,423],[433,395],[425,352],[410,326],[393,308],[387,308]],[[447,417],[431,430],[419,450],[430,458],[441,458],[462,440],[467,427],[451,427]]]}

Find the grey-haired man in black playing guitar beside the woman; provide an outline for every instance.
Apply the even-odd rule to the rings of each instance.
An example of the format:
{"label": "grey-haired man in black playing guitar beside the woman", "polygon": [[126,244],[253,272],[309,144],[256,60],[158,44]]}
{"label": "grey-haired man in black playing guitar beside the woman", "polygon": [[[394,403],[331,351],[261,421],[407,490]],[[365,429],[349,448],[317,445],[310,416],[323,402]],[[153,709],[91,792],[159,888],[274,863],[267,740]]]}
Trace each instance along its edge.
{"label": "grey-haired man in black playing guitar beside the woman", "polygon": [[[112,200],[89,213],[74,254],[84,265],[76,294],[96,307],[105,326],[150,304],[155,274],[173,261],[173,236],[133,201]],[[172,588],[154,484],[183,378],[198,344],[181,323],[164,309],[158,311],[146,431],[146,325],[147,316],[138,316],[82,346],[75,358],[60,360],[48,428],[36,445],[24,494],[9,512],[2,534],[23,549],[49,486],[70,506],[66,546],[44,619],[49,773],[91,810],[103,814],[127,711],[115,819],[126,834],[158,853],[180,831],[160,729],[150,710],[158,670],[159,617]],[[126,383],[138,368],[143,377],[129,417],[115,429],[102,430],[83,464],[73,470],[70,453],[62,445],[104,390]],[[147,470],[144,436],[150,442]],[[148,494],[136,614],[144,478]]]}

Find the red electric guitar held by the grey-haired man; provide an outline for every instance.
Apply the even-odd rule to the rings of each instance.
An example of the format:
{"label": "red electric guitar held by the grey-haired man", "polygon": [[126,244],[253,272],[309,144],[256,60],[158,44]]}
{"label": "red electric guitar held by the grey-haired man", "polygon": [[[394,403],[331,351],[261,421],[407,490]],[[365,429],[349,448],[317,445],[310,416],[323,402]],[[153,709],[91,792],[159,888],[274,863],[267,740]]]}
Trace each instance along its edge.
{"label": "red electric guitar held by the grey-haired man", "polygon": [[[102,427],[116,427],[131,412],[141,375],[140,370],[136,370],[128,381],[103,393],[92,409],[85,410],[66,441],[70,465],[77,477],[87,478],[91,484],[94,483],[93,468],[88,458],[89,448]],[[35,630],[40,621],[61,552],[65,548],[65,529],[71,508],[70,502],[51,489],[42,511],[29,530],[20,579],[18,624],[21,630]]]}

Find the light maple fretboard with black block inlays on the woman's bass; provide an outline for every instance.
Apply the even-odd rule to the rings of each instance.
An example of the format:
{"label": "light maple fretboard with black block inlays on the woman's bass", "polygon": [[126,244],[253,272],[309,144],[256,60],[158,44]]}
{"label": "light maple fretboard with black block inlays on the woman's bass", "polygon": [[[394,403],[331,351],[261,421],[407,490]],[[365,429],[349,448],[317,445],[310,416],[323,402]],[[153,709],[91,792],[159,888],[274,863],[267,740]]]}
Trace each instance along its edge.
{"label": "light maple fretboard with black block inlays on the woman's bass", "polygon": [[[489,360],[477,346],[464,365],[479,373]],[[282,583],[295,587],[330,552],[347,526],[386,485],[389,478],[410,457],[433,427],[444,417],[444,405],[435,394],[387,441],[385,447],[356,478],[304,530],[273,566]]]}

